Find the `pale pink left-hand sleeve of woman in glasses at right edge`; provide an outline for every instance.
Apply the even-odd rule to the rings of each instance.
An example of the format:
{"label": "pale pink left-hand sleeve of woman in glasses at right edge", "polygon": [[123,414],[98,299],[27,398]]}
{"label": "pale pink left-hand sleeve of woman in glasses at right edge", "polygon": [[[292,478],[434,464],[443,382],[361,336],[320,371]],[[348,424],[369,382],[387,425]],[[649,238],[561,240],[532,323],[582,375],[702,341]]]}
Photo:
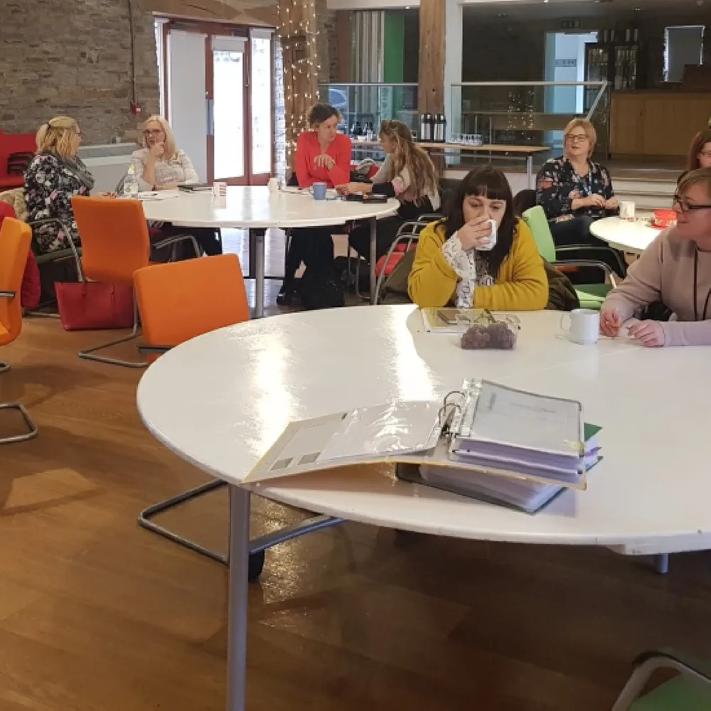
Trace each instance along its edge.
{"label": "pale pink left-hand sleeve of woman in glasses at right edge", "polygon": [[631,264],[624,282],[607,295],[603,309],[616,309],[623,321],[627,321],[645,306],[661,300],[664,236],[662,232]]}

